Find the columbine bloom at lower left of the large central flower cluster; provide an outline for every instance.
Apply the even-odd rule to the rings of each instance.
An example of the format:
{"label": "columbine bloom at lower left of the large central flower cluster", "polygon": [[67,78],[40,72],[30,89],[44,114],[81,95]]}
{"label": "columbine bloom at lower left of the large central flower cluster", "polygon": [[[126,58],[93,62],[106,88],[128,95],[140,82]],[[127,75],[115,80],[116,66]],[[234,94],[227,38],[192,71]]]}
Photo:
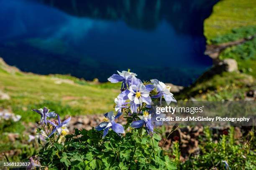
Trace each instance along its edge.
{"label": "columbine bloom at lower left of the large central flower cluster", "polygon": [[114,130],[114,132],[117,133],[118,135],[120,135],[120,133],[125,133],[123,126],[115,122],[115,119],[117,119],[120,115],[115,116],[113,111],[111,111],[105,113],[104,116],[105,118],[103,122],[101,122],[99,125],[95,127],[95,129],[99,131],[104,129],[102,138],[105,138],[110,128]]}

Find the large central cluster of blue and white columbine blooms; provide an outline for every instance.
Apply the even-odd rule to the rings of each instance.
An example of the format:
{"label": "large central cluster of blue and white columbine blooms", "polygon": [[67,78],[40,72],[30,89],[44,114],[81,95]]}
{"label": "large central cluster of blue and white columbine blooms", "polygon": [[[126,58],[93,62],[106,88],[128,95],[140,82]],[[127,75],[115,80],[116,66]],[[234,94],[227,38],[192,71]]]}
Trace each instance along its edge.
{"label": "large central cluster of blue and white columbine blooms", "polygon": [[[122,71],[118,74],[113,74],[108,80],[112,83],[122,82],[121,92],[115,98],[115,116],[113,112],[105,113],[105,119],[100,123],[96,130],[104,130],[103,138],[108,134],[111,128],[115,133],[120,135],[125,133],[122,125],[115,122],[123,112],[132,117],[131,128],[141,128],[145,125],[148,134],[154,133],[154,127],[162,125],[163,122],[156,121],[156,114],[153,101],[166,101],[167,105],[171,102],[176,102],[173,94],[170,92],[170,86],[165,85],[163,82],[152,79],[150,82],[142,82],[136,77],[133,72]],[[158,115],[165,117],[164,114]]]}

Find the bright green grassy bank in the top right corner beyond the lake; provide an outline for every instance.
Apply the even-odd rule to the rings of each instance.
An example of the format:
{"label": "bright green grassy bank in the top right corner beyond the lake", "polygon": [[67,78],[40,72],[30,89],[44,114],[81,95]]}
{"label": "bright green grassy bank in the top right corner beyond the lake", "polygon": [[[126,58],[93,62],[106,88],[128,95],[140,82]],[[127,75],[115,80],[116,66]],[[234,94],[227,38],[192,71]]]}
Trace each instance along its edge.
{"label": "bright green grassy bank in the top right corner beyond the lake", "polygon": [[[213,7],[212,15],[205,20],[207,42],[233,31],[235,28],[256,25],[255,0],[221,0]],[[254,32],[255,33],[255,32]]]}

